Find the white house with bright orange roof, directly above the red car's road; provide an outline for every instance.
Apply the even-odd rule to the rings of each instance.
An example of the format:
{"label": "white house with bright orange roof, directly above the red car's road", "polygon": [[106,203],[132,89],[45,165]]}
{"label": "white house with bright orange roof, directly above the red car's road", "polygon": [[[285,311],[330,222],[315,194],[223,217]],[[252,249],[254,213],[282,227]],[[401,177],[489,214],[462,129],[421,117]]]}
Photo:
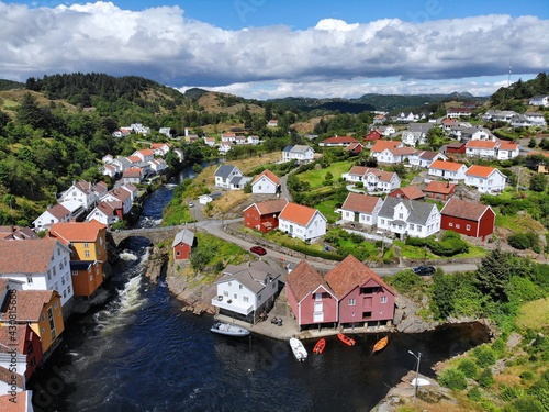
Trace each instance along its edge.
{"label": "white house with bright orange roof, directly above the red car's road", "polygon": [[302,241],[314,241],[326,234],[327,219],[316,209],[289,202],[279,216],[279,230]]}

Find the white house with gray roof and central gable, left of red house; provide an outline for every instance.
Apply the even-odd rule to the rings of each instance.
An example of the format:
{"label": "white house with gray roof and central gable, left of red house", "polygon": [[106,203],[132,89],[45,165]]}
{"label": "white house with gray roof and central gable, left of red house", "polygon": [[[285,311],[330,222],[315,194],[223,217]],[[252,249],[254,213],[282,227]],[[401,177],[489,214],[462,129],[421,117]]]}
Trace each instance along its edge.
{"label": "white house with gray roof and central gable, left of red house", "polygon": [[436,204],[388,197],[378,213],[378,229],[404,236],[428,237],[440,231]]}

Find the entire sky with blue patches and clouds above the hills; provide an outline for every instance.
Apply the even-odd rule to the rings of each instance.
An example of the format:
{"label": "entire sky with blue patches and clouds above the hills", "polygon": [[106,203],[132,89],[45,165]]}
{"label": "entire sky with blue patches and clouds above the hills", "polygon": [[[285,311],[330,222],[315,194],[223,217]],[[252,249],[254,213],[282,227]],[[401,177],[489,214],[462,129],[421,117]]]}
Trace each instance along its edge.
{"label": "entire sky with blue patches and clouds above the hills", "polygon": [[549,71],[548,0],[0,1],[0,78],[143,76],[266,100],[490,96]]}

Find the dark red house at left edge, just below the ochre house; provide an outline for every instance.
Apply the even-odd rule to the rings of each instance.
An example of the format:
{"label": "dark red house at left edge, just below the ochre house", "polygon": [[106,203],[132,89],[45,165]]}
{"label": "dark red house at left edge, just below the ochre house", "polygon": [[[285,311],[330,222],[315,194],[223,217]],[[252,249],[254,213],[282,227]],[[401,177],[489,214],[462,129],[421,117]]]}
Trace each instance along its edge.
{"label": "dark red house at left edge, just below the ochre house", "polygon": [[[12,339],[13,337],[15,341]],[[42,361],[40,336],[29,325],[16,325],[15,331],[11,333],[8,326],[0,326],[0,354],[11,353],[13,349],[26,357],[24,377],[25,381],[29,381]]]}

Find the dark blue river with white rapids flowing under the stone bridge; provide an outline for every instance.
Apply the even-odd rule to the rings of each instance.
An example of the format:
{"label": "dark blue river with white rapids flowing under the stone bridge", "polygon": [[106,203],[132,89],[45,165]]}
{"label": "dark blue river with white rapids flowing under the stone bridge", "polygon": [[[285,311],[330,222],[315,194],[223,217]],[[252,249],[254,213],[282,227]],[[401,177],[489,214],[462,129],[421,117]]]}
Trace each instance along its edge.
{"label": "dark blue river with white rapids flowing under the stone bridge", "polygon": [[[154,193],[143,222],[158,221],[170,196]],[[287,342],[219,336],[210,316],[181,312],[161,278],[142,276],[148,253],[148,241],[130,240],[105,285],[111,298],[70,319],[30,385],[36,412],[368,411],[415,368],[408,350],[421,352],[421,372],[434,376],[433,364],[488,338],[477,324],[447,326],[394,334],[371,355],[381,336],[354,336],[354,347],[330,337],[324,354],[298,363]]]}

